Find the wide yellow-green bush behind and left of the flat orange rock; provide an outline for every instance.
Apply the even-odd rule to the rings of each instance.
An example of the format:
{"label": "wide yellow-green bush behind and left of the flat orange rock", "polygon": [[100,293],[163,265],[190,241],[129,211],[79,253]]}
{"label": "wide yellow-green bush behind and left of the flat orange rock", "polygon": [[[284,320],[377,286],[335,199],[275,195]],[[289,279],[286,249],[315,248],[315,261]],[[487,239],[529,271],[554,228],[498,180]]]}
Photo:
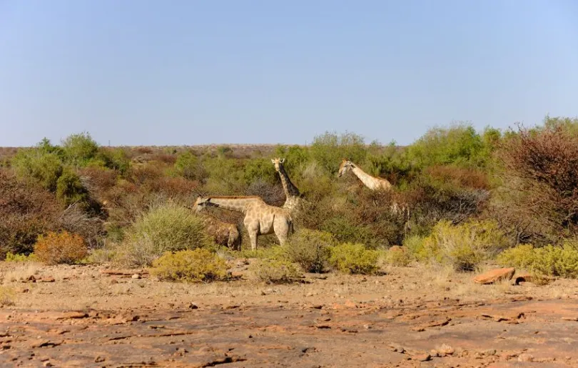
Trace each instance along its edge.
{"label": "wide yellow-green bush behind and left of the flat orange rock", "polygon": [[438,222],[423,240],[417,257],[448,264],[457,270],[472,271],[507,247],[504,234],[492,221],[470,220],[460,225]]}

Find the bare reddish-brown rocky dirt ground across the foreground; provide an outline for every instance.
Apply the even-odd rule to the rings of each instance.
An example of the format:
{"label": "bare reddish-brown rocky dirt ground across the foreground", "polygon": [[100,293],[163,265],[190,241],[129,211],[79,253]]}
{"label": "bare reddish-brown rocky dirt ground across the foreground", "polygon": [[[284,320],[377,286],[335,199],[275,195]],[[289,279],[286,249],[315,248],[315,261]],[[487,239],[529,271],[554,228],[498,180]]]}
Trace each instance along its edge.
{"label": "bare reddish-brown rocky dirt ground across the foreground", "polygon": [[0,366],[578,367],[577,281],[391,267],[176,284],[113,271],[2,262]]}

